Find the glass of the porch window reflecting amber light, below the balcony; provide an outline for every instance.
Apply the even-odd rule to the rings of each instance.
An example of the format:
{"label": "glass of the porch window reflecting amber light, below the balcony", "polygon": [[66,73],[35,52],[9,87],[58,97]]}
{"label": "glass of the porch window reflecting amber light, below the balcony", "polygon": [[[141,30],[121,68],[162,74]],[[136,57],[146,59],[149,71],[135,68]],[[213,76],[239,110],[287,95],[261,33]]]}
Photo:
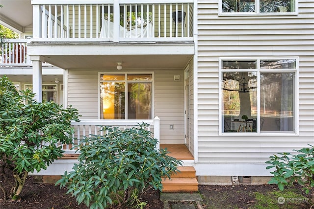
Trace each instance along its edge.
{"label": "glass of the porch window reflecting amber light, below the balcony", "polygon": [[101,119],[152,119],[153,74],[100,74]]}

